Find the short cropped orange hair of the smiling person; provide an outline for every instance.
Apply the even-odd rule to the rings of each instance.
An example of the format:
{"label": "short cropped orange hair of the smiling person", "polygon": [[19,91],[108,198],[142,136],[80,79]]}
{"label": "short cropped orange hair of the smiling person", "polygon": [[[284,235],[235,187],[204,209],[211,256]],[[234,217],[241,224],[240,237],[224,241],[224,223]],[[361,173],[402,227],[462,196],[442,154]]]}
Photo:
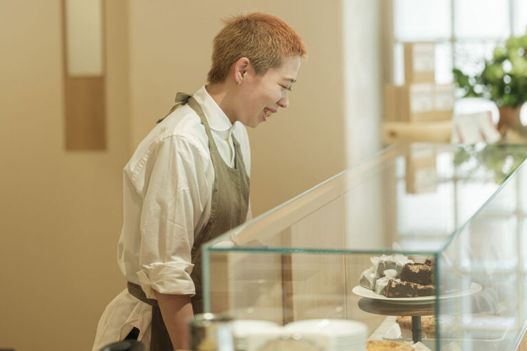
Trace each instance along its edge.
{"label": "short cropped orange hair of the smiling person", "polygon": [[283,20],[272,14],[253,13],[224,20],[215,36],[212,51],[211,84],[223,82],[231,66],[248,58],[259,75],[279,67],[285,58],[307,56],[302,38]]}

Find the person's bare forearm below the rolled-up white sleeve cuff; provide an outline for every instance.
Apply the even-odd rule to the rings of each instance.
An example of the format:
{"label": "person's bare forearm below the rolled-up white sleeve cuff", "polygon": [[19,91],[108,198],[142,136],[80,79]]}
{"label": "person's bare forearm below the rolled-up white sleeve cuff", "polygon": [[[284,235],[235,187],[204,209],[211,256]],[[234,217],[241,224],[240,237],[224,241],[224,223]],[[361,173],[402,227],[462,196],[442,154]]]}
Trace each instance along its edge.
{"label": "person's bare forearm below the rolled-up white sleeve cuff", "polygon": [[188,350],[190,345],[187,319],[194,316],[190,295],[171,295],[155,290],[154,293],[174,350]]}

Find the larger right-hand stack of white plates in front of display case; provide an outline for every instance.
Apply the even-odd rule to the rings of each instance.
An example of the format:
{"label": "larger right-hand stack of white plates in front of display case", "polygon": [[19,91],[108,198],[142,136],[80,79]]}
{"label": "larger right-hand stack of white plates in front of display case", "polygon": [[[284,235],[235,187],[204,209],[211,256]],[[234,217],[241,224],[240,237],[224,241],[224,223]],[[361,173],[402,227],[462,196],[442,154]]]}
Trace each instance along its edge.
{"label": "larger right-hand stack of white plates in front of display case", "polygon": [[292,322],[284,327],[290,334],[302,335],[302,338],[313,339],[320,335],[329,340],[326,350],[364,351],[368,327],[366,324],[345,319],[306,319]]}

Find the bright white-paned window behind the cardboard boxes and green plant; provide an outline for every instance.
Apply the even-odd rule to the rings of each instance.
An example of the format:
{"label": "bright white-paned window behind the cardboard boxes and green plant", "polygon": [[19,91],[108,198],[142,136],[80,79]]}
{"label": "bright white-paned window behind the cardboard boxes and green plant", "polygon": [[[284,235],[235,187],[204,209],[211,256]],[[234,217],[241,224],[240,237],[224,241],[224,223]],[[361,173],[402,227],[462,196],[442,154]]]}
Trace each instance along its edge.
{"label": "bright white-paned window behind the cardboard boxes and green plant", "polygon": [[[394,82],[403,84],[403,45],[436,43],[436,83],[452,82],[452,68],[476,73],[508,36],[527,32],[527,0],[393,0]],[[526,104],[527,105],[527,104]],[[497,108],[484,99],[461,99],[455,113]],[[527,106],[522,109],[527,124]]]}

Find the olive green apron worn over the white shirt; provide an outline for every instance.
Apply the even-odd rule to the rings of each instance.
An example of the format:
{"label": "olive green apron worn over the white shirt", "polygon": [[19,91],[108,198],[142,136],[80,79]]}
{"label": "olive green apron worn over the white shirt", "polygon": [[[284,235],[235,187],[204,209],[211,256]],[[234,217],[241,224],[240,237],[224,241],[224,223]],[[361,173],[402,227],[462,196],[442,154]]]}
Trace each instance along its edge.
{"label": "olive green apron worn over the white shirt", "polygon": [[[198,114],[201,123],[204,125],[205,132],[209,138],[209,152],[215,173],[211,197],[211,216],[204,228],[194,237],[194,245],[191,250],[192,263],[194,264],[191,278],[196,287],[196,295],[191,298],[191,302],[194,313],[196,314],[203,312],[201,245],[244,223],[247,217],[249,203],[249,177],[245,169],[242,151],[234,135],[235,167],[231,168],[225,163],[218,151],[218,147],[214,143],[209,122],[200,104],[198,104],[198,101],[194,97],[185,93],[178,93],[176,95],[176,106],[170,110],[169,114],[185,104],[189,104]],[[158,123],[163,121],[163,119],[160,119]],[[128,282],[128,292],[135,298],[152,306],[150,351],[172,351],[172,343],[157,301],[147,299],[141,287],[131,282]]]}

